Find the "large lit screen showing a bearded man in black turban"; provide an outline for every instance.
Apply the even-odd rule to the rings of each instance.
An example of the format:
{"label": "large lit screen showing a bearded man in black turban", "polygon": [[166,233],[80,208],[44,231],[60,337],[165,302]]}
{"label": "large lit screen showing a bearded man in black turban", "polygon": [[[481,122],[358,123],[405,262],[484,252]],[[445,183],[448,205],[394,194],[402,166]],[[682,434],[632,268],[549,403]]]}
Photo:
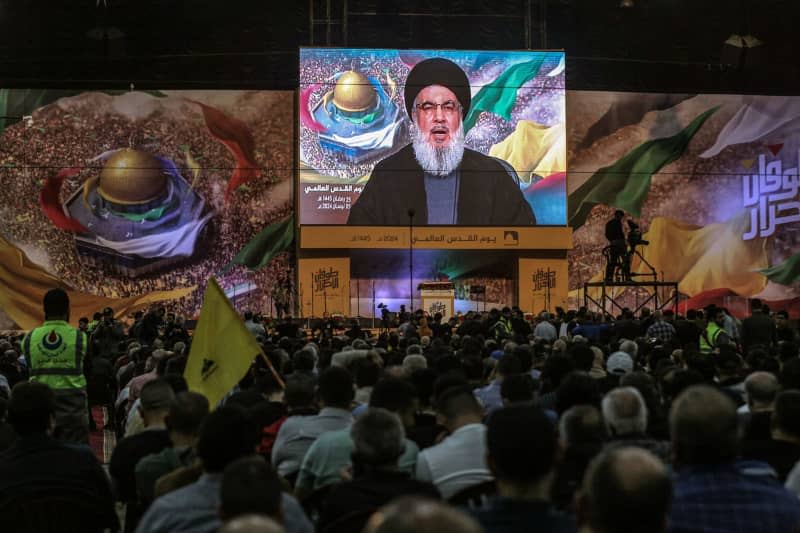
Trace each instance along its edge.
{"label": "large lit screen showing a bearded man in black turban", "polygon": [[298,105],[301,226],[566,225],[562,51],[304,48]]}

